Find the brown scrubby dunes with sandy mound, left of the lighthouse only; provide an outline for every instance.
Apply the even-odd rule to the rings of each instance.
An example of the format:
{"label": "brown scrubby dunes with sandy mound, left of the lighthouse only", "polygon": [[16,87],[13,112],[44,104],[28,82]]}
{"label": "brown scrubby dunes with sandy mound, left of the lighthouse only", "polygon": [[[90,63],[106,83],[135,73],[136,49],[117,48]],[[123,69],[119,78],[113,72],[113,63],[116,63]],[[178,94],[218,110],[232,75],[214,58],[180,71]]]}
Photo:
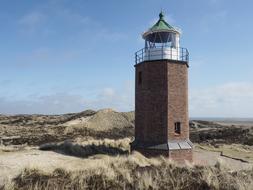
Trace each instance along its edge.
{"label": "brown scrubby dunes with sandy mound, left of the lighthouse only", "polygon": [[[82,121],[77,124],[73,121]],[[72,123],[71,123],[72,122]],[[41,145],[78,137],[121,139],[134,135],[134,113],[101,110],[56,116],[17,115],[0,117],[1,138],[17,136],[5,145]]]}

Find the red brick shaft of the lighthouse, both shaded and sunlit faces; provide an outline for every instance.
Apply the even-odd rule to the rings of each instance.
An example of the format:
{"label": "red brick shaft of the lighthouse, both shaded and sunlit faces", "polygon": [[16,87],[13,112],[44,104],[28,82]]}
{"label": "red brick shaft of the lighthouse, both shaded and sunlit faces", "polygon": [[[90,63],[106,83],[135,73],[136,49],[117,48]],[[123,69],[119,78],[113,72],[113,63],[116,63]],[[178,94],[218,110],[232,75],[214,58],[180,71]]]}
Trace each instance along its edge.
{"label": "red brick shaft of the lighthouse, both shaded and sunlit faces", "polygon": [[[189,139],[188,68],[185,62],[144,61],[137,64],[135,70],[136,144],[155,145],[168,140]],[[138,81],[140,72],[141,84]],[[175,122],[181,123],[180,135],[174,133]],[[178,159],[176,155],[171,153],[169,156]]]}

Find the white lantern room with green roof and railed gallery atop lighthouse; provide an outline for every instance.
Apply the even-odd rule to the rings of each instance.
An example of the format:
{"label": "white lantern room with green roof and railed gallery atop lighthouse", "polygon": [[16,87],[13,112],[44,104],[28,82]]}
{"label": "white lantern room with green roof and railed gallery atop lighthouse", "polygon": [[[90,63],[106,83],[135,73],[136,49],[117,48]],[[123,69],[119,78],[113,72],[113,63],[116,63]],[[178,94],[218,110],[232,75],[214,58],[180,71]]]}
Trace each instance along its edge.
{"label": "white lantern room with green roof and railed gallery atop lighthouse", "polygon": [[159,14],[159,20],[143,33],[142,38],[145,47],[135,53],[136,64],[163,59],[188,62],[187,49],[180,47],[180,30],[165,21],[163,12]]}

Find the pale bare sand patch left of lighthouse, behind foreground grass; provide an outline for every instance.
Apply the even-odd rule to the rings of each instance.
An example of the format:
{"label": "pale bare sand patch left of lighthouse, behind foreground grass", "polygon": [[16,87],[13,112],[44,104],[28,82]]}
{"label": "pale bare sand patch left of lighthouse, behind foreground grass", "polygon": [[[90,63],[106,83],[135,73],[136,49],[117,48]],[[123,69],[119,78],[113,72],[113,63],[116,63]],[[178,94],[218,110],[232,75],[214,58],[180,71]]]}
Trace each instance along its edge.
{"label": "pale bare sand patch left of lighthouse, behind foreground grass", "polygon": [[38,168],[48,172],[53,171],[55,168],[78,170],[85,167],[87,162],[88,159],[37,149],[0,152],[0,185],[15,177],[26,167]]}

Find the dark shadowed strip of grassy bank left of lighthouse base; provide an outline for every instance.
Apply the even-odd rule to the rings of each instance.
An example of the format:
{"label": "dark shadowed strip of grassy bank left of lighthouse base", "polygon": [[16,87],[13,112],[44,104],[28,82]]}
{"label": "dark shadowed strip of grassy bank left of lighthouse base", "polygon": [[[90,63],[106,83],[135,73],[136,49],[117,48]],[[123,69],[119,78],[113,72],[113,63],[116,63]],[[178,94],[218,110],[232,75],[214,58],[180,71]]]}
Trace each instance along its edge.
{"label": "dark shadowed strip of grassy bank left of lighthouse base", "polygon": [[127,150],[111,147],[107,145],[79,145],[72,142],[65,141],[64,143],[47,143],[39,147],[43,151],[54,151],[69,156],[76,156],[80,158],[87,158],[96,154],[106,155],[123,155],[128,154]]}

